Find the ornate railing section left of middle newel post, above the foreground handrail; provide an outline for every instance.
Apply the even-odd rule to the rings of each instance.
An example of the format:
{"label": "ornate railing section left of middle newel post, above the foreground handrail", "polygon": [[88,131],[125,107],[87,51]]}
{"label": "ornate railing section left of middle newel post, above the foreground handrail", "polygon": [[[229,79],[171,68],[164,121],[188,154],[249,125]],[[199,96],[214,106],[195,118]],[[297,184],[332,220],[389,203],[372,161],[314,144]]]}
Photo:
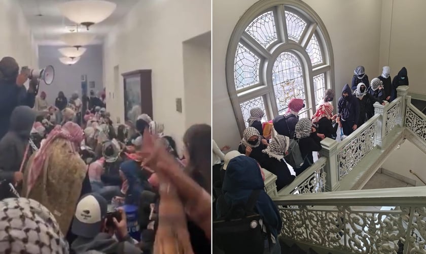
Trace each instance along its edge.
{"label": "ornate railing section left of middle newel post, above the foreground handrail", "polygon": [[324,170],[327,158],[321,157],[303,171],[292,183],[279,190],[278,196],[325,192],[326,175]]}

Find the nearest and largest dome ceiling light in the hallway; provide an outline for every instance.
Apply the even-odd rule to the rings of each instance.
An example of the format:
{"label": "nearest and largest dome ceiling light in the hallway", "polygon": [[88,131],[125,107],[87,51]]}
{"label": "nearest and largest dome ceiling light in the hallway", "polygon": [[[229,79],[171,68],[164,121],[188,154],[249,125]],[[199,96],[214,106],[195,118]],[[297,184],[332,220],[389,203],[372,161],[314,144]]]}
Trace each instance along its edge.
{"label": "nearest and largest dome ceiling light in the hallway", "polygon": [[117,5],[103,0],[73,0],[60,3],[59,11],[67,19],[87,27],[107,19]]}

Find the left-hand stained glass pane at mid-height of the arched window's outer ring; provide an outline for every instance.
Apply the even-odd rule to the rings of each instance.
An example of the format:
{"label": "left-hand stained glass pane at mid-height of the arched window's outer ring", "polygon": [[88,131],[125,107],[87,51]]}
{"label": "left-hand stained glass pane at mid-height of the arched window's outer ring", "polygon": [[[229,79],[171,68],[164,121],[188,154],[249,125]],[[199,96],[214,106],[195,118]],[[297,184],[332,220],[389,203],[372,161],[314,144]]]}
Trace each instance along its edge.
{"label": "left-hand stained glass pane at mid-height of the arched window's outer ring", "polygon": [[235,54],[234,79],[237,89],[259,82],[259,57],[240,43]]}

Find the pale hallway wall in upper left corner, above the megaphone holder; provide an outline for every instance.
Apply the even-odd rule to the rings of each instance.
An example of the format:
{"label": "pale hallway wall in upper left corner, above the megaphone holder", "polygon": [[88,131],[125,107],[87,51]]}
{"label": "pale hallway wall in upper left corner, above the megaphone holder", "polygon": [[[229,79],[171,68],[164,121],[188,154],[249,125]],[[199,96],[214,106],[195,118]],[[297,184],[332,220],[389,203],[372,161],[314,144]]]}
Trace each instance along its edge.
{"label": "pale hallway wall in upper left corner, above the megaphone holder", "polygon": [[38,49],[16,0],[0,0],[0,58],[12,56],[19,66],[38,68]]}

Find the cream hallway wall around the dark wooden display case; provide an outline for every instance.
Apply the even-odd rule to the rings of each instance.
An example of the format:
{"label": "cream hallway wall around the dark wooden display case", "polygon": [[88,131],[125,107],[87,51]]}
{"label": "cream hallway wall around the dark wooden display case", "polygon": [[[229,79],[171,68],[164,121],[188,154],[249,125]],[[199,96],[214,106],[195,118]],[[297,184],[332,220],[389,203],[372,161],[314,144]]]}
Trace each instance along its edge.
{"label": "cream hallway wall around the dark wooden display case", "polygon": [[111,31],[103,73],[113,119],[124,119],[123,80],[114,89],[114,66],[120,74],[151,69],[154,119],[181,144],[186,112],[176,112],[175,100],[185,101],[182,43],[210,30],[210,12],[210,0],[143,0]]}

